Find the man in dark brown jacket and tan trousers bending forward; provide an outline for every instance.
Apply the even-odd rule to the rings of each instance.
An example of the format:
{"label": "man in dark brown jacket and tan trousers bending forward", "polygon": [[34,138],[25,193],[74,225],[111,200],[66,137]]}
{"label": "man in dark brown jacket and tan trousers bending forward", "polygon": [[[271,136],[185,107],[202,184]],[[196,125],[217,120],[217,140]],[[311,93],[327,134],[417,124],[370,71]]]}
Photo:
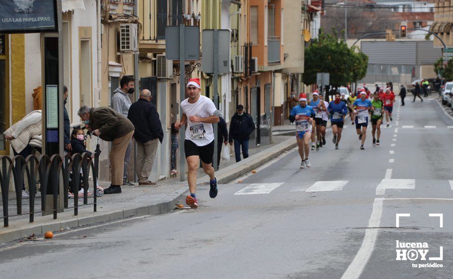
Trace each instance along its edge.
{"label": "man in dark brown jacket and tan trousers bending forward", "polygon": [[134,134],[134,125],[122,114],[106,107],[90,108],[83,105],[77,115],[80,116],[85,127],[93,135],[99,136],[106,142],[112,142],[108,154],[111,167],[111,185],[104,190],[104,194],[121,193],[124,156]]}

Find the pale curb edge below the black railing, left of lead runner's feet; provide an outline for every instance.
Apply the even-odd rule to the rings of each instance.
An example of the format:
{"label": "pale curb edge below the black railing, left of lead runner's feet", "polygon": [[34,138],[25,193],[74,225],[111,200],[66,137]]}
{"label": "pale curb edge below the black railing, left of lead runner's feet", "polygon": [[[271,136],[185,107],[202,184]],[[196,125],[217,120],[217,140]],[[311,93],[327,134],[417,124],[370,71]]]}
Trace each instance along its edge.
{"label": "pale curb edge below the black railing, left of lead runner's feet", "polygon": [[[93,225],[101,222],[109,222],[118,219],[126,219],[132,216],[158,215],[172,210],[175,203],[187,195],[189,190],[181,188],[174,193],[167,195],[154,203],[128,204],[121,203],[121,208],[115,208],[115,205],[98,205],[102,212],[93,212],[93,207],[79,207],[78,216],[74,216],[73,211],[60,213],[59,219],[53,220],[52,215],[36,216],[34,223],[28,221],[14,221],[9,227],[0,228],[0,244],[14,240],[22,239],[34,233],[35,235],[44,234],[47,231],[59,232],[76,227]],[[98,209],[99,210],[99,209]]]}

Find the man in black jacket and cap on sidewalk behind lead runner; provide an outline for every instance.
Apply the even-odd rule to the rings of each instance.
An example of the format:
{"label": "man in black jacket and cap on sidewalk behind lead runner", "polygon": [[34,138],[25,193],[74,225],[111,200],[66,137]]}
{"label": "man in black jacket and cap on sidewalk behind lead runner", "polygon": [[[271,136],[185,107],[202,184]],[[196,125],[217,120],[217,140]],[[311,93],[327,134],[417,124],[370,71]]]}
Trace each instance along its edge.
{"label": "man in black jacket and cap on sidewalk behind lead runner", "polygon": [[242,104],[239,104],[236,109],[237,113],[233,115],[230,122],[229,142],[230,145],[233,145],[234,140],[236,162],[239,162],[241,160],[241,146],[244,159],[248,157],[249,135],[255,129],[255,124],[251,116],[244,112]]}

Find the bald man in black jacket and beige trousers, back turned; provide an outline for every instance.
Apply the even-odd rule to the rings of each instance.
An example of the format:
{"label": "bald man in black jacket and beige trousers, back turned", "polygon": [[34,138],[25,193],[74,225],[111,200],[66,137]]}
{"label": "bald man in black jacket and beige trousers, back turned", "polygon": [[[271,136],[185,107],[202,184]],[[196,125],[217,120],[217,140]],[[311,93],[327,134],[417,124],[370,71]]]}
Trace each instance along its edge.
{"label": "bald man in black jacket and beige trousers, back turned", "polygon": [[156,185],[155,182],[149,180],[149,177],[156,157],[157,141],[162,143],[163,139],[162,124],[151,98],[150,90],[142,90],[140,98],[130,106],[127,115],[135,127],[138,185]]}

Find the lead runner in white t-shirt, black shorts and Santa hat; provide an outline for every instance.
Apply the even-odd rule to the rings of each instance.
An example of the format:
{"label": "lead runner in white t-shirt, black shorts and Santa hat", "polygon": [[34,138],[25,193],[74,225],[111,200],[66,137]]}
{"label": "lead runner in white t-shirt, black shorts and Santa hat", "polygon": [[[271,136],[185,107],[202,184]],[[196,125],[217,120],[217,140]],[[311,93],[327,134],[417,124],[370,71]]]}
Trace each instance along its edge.
{"label": "lead runner in white t-shirt, black shorts and Santa hat", "polygon": [[[189,97],[181,102],[181,121],[175,123],[179,130],[182,125],[187,124],[184,151],[189,171],[187,181],[189,182],[190,195],[186,197],[186,203],[192,208],[197,208],[196,201],[196,171],[202,160],[203,170],[210,178],[209,196],[217,196],[217,179],[214,176],[212,157],[214,155],[214,131],[213,123],[219,122],[219,112],[214,102],[201,93],[200,79],[190,79],[187,83],[187,94]],[[183,175],[183,174],[181,174]]]}

